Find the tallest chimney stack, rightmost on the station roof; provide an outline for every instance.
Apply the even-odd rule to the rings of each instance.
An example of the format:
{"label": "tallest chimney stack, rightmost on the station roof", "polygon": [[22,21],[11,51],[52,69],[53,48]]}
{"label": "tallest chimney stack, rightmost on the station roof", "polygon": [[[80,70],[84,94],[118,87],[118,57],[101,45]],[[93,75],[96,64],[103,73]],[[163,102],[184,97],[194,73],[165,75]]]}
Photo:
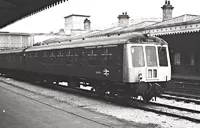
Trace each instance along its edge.
{"label": "tallest chimney stack, rightmost on the station roof", "polygon": [[174,7],[170,4],[170,1],[165,1],[165,4],[161,7],[163,10],[163,21],[172,18],[172,10]]}

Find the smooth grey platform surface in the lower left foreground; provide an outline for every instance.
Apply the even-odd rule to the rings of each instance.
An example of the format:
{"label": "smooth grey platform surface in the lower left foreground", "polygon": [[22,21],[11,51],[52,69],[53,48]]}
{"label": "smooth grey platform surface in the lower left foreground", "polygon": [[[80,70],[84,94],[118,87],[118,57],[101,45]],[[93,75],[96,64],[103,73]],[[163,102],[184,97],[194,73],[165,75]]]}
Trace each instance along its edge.
{"label": "smooth grey platform surface in the lower left foreground", "polygon": [[[0,85],[5,83],[0,83]],[[0,128],[138,128],[23,89],[0,86]]]}

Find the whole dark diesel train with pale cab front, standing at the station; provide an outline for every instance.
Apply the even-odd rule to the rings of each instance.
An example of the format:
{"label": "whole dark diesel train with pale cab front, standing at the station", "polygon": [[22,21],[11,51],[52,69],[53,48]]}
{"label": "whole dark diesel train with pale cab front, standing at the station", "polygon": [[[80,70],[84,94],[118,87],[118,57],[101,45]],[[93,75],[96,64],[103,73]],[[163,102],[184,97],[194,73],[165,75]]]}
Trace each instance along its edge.
{"label": "whole dark diesel train with pale cab front, standing at the station", "polygon": [[49,45],[0,51],[0,71],[48,82],[87,83],[100,95],[144,101],[171,80],[167,43],[144,34],[68,39]]}

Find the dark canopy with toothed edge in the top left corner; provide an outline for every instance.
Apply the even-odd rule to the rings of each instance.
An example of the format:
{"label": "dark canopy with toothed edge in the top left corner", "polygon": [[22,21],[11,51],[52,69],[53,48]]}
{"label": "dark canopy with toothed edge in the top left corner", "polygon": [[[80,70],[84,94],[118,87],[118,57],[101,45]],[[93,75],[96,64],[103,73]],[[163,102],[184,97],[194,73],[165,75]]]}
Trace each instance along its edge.
{"label": "dark canopy with toothed edge in the top left corner", "polygon": [[0,28],[67,0],[0,0]]}

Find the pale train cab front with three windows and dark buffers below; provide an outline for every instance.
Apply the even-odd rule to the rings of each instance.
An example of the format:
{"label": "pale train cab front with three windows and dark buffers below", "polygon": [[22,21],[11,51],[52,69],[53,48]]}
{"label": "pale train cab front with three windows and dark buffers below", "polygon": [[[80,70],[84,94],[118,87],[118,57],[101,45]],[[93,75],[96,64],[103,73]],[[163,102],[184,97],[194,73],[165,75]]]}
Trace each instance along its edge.
{"label": "pale train cab front with three windows and dark buffers below", "polygon": [[151,38],[150,41],[143,39],[140,43],[130,42],[125,47],[124,81],[131,83],[131,88],[144,101],[159,96],[166,82],[171,80],[167,43]]}

